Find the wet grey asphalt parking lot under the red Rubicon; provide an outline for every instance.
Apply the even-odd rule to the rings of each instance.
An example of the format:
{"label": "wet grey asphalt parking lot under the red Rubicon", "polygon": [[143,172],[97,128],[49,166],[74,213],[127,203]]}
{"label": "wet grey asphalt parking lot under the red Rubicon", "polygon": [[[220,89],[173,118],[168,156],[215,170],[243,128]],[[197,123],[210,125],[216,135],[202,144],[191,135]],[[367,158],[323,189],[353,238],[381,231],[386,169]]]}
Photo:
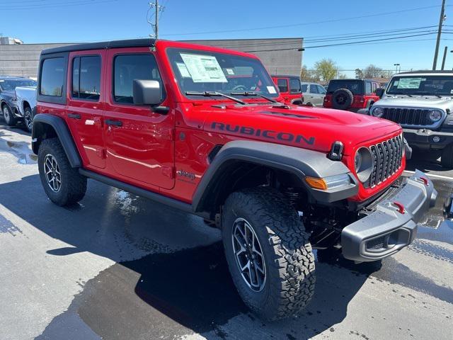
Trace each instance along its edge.
{"label": "wet grey asphalt parking lot under the red Rubicon", "polygon": [[[84,200],[45,196],[30,135],[0,123],[0,339],[452,339],[453,225],[432,220],[382,267],[316,262],[314,299],[263,323],[231,283],[220,235],[198,217],[88,182]],[[408,173],[410,174],[410,173]]]}

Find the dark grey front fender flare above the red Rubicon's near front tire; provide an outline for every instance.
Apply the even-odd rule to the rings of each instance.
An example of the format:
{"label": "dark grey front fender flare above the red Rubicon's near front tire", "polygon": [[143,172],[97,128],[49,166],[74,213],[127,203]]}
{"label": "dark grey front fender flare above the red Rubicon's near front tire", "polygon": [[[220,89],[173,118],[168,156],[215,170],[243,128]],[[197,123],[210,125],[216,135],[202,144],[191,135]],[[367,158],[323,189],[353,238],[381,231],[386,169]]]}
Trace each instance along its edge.
{"label": "dark grey front fender flare above the red Rubicon's near front tire", "polygon": [[[202,211],[209,199],[215,181],[220,178],[222,171],[231,165],[231,162],[250,162],[268,166],[273,169],[287,171],[297,176],[303,183],[306,191],[317,201],[331,203],[354,196],[358,192],[358,181],[342,162],[328,159],[326,154],[299,147],[276,145],[267,142],[236,140],[226,143],[215,156],[212,164],[202,176],[193,195],[193,210]],[[348,174],[351,184],[340,190],[321,191],[308,186],[304,178],[327,177]]]}

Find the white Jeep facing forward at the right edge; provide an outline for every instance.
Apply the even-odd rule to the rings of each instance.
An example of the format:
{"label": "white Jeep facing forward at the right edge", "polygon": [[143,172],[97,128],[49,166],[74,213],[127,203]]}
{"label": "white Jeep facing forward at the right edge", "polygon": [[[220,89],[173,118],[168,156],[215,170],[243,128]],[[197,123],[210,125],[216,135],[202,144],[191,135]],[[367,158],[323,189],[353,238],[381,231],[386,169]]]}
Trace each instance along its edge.
{"label": "white Jeep facing forward at the right edge", "polygon": [[395,74],[377,94],[382,99],[369,114],[399,123],[415,151],[429,159],[442,156],[442,166],[453,168],[452,71]]}

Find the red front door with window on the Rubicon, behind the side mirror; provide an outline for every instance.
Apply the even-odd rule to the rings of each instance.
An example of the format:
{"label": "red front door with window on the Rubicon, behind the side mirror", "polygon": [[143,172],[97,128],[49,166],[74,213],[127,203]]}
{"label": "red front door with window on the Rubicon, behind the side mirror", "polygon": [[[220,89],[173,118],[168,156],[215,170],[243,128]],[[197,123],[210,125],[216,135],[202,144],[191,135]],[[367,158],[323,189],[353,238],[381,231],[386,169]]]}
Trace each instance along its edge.
{"label": "red front door with window on the Rubicon, behind the side mirror", "polygon": [[105,101],[104,138],[109,170],[135,185],[174,186],[174,112],[154,113],[133,103],[134,79],[161,83],[161,106],[169,106],[161,73],[149,48],[108,51],[111,88]]}

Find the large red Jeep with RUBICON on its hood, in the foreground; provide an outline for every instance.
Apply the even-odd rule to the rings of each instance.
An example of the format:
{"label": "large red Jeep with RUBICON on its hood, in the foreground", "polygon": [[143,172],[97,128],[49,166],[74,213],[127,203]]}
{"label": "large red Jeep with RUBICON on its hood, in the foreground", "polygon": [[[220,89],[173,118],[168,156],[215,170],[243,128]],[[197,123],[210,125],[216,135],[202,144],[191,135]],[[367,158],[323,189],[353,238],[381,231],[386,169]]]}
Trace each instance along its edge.
{"label": "large red Jeep with RUBICON on its hood, in the foreground", "polygon": [[314,293],[312,249],[395,254],[437,192],[420,171],[401,177],[399,125],[281,100],[246,53],[149,39],[45,50],[32,136],[42,186],[69,205],[95,179],[202,217],[222,229],[246,305],[286,317]]}

